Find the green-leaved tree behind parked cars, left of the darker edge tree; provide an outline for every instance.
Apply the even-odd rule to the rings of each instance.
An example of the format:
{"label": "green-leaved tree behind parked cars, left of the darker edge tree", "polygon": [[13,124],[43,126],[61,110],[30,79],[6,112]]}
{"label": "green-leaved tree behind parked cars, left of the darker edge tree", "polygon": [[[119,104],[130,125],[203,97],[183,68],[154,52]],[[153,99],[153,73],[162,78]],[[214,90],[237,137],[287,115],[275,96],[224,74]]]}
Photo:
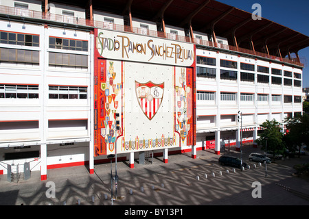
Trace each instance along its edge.
{"label": "green-leaved tree behind parked cars, left of the darker edge tree", "polygon": [[264,129],[264,131],[260,134],[260,138],[255,140],[255,142],[259,145],[262,145],[262,150],[266,151],[266,139],[267,139],[267,151],[272,151],[275,157],[275,154],[282,154],[285,151],[285,144],[282,140],[283,133],[280,132],[279,123],[273,120],[266,120],[266,122],[262,123],[260,127]]}

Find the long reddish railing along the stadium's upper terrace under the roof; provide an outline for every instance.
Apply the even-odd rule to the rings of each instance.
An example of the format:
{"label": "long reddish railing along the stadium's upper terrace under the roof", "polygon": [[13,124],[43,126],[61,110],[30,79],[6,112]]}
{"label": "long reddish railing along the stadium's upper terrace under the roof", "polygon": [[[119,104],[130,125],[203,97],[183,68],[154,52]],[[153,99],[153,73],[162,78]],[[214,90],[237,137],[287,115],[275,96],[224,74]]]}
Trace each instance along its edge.
{"label": "long reddish railing along the stadium's upper terrace under the roof", "polygon": [[277,57],[275,55],[268,55],[266,53],[261,53],[258,51],[253,51],[250,49],[244,49],[240,47],[233,47],[231,45],[227,44],[220,44],[217,43],[216,45],[214,42],[208,41],[208,40],[200,40],[196,38],[190,38],[187,36],[179,36],[175,34],[169,34],[169,33],[164,33],[162,31],[153,31],[150,29],[144,29],[144,28],[139,28],[139,27],[130,27],[126,25],[117,25],[114,23],[106,23],[103,21],[91,21],[89,19],[84,19],[84,18],[77,18],[73,16],[65,16],[65,15],[60,15],[60,14],[50,14],[50,13],[45,13],[45,12],[38,12],[34,10],[26,10],[22,8],[13,8],[13,7],[8,7],[4,5],[0,5],[0,14],[5,14],[8,17],[10,16],[21,16],[21,17],[27,17],[27,18],[34,18],[34,19],[43,19],[47,21],[56,21],[60,23],[68,23],[71,25],[82,25],[82,26],[90,26],[90,27],[97,27],[97,28],[102,28],[102,29],[111,29],[113,31],[125,31],[125,32],[130,32],[134,34],[144,34],[146,36],[155,36],[159,38],[167,38],[170,40],[178,40],[181,42],[192,42],[195,44],[201,44],[203,46],[207,47],[217,47],[220,49],[226,49],[229,51],[236,51],[240,53],[247,53],[250,55],[256,55],[260,57],[266,57],[271,60],[277,60],[281,62],[287,62],[290,64],[295,64],[298,66],[303,66],[301,62],[298,62],[297,59],[288,59],[288,58],[282,58],[282,57]]}

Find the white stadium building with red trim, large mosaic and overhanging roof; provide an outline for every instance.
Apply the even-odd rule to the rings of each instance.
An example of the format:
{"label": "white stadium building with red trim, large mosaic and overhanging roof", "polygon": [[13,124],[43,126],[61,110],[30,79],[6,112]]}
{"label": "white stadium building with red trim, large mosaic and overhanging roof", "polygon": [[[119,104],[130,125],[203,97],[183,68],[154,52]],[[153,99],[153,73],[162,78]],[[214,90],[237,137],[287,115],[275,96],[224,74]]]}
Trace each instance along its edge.
{"label": "white stadium building with red trim, large mosaic and overhanging roof", "polygon": [[266,119],[284,131],[308,45],[214,0],[1,1],[0,174],[220,154]]}

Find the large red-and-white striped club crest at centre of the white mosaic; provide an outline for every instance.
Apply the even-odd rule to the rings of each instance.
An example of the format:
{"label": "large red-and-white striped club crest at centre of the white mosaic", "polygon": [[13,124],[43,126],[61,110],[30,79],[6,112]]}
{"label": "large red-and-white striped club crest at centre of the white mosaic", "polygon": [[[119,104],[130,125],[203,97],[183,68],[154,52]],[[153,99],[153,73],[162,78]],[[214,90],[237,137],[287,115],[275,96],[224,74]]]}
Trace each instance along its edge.
{"label": "large red-and-white striped club crest at centre of the white mosaic", "polygon": [[162,103],[164,82],[157,84],[151,81],[147,83],[135,81],[135,92],[141,110],[149,120],[152,120]]}

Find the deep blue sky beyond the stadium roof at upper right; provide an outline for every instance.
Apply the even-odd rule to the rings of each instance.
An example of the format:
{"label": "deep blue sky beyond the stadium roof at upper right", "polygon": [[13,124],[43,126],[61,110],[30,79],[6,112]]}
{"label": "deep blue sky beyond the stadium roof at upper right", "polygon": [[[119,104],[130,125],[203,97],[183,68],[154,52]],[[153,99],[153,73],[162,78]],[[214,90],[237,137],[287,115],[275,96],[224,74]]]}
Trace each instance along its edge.
{"label": "deep blue sky beyond the stadium roof at upper right", "polygon": [[[227,5],[234,6],[246,12],[254,3],[262,7],[262,18],[279,23],[309,36],[309,0],[217,0]],[[303,88],[309,87],[309,47],[299,51],[301,60],[306,60],[303,69]],[[303,61],[304,62],[304,61]]]}

